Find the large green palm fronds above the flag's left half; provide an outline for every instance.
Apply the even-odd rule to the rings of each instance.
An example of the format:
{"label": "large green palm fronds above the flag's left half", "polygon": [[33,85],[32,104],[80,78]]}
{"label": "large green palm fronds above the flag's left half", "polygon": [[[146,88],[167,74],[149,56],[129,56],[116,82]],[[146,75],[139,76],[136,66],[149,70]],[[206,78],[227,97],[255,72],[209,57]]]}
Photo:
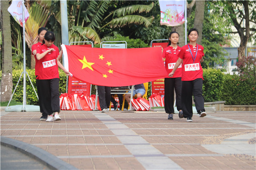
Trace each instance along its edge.
{"label": "large green palm fronds above the flag's left half", "polygon": [[120,2],[109,0],[71,2],[69,6],[73,11],[70,11],[70,16],[76,20],[73,20],[73,26],[70,27],[70,41],[80,41],[82,37],[83,40],[90,39],[94,43],[99,43],[101,41],[99,31],[107,26],[115,28],[131,24],[143,24],[145,27],[151,25],[154,17],[143,17],[138,14],[150,11],[154,3],[121,7],[106,14],[111,4]]}

